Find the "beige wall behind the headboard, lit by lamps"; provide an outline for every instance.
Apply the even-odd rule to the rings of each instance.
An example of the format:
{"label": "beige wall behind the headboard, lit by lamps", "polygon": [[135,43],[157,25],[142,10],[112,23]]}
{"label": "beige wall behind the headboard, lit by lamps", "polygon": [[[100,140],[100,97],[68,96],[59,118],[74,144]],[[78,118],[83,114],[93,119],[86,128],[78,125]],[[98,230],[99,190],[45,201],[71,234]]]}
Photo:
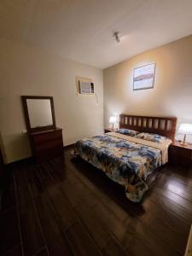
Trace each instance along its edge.
{"label": "beige wall behind the headboard, lit by lamps", "polygon": [[[131,50],[131,49],[130,49]],[[132,90],[133,68],[156,62],[154,89]],[[104,70],[104,119],[110,115],[177,116],[192,123],[192,36],[137,55]],[[188,137],[192,142],[192,138]]]}

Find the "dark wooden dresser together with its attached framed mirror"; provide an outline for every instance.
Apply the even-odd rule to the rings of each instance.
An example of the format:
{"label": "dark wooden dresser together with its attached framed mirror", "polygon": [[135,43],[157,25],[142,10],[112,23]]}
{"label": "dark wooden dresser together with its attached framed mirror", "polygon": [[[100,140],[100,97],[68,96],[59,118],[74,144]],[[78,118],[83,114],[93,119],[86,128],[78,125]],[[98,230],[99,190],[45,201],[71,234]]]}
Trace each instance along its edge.
{"label": "dark wooden dresser together with its attached framed mirror", "polygon": [[[52,96],[21,96],[23,109],[26,119],[26,130],[29,136],[32,156],[35,160],[49,160],[63,152],[62,129],[55,125],[55,111],[54,101]],[[34,100],[32,104],[36,104],[34,111],[30,108],[29,102]],[[40,101],[38,101],[40,100]],[[46,101],[46,108],[43,111],[44,101]],[[38,102],[38,105],[37,105]],[[47,105],[47,103],[49,103]],[[48,106],[48,107],[47,107]],[[39,109],[41,108],[41,109]],[[39,111],[38,111],[39,109]],[[41,111],[41,112],[40,112]],[[39,115],[40,113],[40,115]],[[49,113],[49,119],[46,123],[42,119]],[[33,122],[32,122],[33,116]],[[34,123],[35,116],[35,125]],[[38,117],[38,118],[37,118]],[[37,122],[38,119],[38,122]]]}

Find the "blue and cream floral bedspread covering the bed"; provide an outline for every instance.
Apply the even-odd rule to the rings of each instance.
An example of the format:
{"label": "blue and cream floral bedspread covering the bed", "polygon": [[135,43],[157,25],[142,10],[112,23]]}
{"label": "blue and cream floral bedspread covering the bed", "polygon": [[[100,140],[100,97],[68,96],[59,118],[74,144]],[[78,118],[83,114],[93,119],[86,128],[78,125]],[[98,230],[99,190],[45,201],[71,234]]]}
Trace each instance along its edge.
{"label": "blue and cream floral bedspread covering the bed", "polygon": [[108,134],[79,140],[74,152],[123,185],[127,198],[134,202],[141,201],[148,189],[148,174],[162,164],[160,149]]}

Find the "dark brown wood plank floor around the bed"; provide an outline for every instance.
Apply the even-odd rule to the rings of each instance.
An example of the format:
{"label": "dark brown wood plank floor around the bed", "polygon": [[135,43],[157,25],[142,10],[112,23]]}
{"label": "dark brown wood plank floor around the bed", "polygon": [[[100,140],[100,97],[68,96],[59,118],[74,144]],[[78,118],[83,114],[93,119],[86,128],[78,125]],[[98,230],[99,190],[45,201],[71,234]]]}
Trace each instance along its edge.
{"label": "dark brown wood plank floor around the bed", "polygon": [[[156,180],[153,182],[153,178]],[[192,170],[156,172],[140,204],[84,160],[12,167],[1,196],[1,255],[183,255]]]}

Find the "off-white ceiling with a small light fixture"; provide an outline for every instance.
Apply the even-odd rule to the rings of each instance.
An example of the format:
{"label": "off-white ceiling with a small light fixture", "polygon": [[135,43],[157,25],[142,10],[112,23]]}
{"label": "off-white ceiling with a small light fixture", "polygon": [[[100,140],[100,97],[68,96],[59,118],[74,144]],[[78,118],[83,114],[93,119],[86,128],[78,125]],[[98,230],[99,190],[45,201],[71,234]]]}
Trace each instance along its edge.
{"label": "off-white ceiling with a small light fixture", "polygon": [[189,34],[192,0],[0,0],[1,38],[100,68]]}

